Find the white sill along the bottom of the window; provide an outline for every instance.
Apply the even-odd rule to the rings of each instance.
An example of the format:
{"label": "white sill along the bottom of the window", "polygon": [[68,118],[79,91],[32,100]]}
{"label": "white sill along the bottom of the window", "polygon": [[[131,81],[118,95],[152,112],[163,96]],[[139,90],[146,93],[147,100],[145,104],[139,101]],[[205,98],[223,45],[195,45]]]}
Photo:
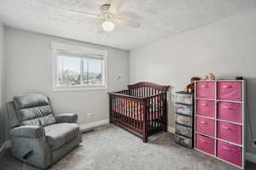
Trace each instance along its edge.
{"label": "white sill along the bottom of the window", "polygon": [[53,92],[65,92],[65,91],[82,91],[82,90],[105,90],[107,89],[107,85],[105,86],[75,86],[75,87],[54,87],[52,89]]}

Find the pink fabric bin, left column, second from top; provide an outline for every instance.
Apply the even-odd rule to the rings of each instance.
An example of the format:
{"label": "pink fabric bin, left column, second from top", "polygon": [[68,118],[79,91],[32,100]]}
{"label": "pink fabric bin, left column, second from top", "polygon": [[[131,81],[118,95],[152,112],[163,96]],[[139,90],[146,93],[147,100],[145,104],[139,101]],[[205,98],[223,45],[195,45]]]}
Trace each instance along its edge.
{"label": "pink fabric bin, left column, second from top", "polygon": [[215,102],[209,100],[196,100],[196,115],[215,117]]}

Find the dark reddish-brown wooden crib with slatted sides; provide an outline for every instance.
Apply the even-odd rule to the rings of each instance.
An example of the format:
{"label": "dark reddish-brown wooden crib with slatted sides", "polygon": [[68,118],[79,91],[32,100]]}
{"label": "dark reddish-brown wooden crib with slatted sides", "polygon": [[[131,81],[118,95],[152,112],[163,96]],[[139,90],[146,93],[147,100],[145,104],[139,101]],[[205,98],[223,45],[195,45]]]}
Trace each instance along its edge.
{"label": "dark reddish-brown wooden crib with slatted sides", "polygon": [[169,86],[152,82],[128,85],[128,90],[109,93],[109,119],[148,142],[148,136],[167,130],[166,93]]}

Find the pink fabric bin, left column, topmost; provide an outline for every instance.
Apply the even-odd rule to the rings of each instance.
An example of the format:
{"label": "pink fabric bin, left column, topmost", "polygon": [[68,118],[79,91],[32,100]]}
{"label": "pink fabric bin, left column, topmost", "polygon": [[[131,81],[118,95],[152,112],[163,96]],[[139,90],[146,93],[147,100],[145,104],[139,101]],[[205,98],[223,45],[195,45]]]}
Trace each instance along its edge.
{"label": "pink fabric bin, left column, topmost", "polygon": [[196,82],[196,97],[215,99],[215,82]]}

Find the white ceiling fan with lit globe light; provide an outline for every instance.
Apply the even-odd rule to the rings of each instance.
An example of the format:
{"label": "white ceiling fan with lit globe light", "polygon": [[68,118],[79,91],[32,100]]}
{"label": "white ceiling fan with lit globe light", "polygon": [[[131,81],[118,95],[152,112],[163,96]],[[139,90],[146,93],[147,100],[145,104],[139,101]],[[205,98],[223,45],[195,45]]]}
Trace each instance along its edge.
{"label": "white ceiling fan with lit globe light", "polygon": [[70,9],[70,8],[63,8],[55,5],[49,5],[49,6],[54,8],[61,8],[63,10],[67,10],[73,13],[85,14],[89,17],[94,17],[96,19],[102,20],[102,29],[103,31],[107,31],[107,32],[113,31],[117,24],[130,26],[132,28],[138,28],[141,26],[141,24],[138,23],[137,21],[125,20],[119,17],[119,14],[116,13],[117,9],[114,8],[114,5],[112,3],[102,4],[100,8],[101,14],[91,14],[84,11],[79,11],[79,10]]}

